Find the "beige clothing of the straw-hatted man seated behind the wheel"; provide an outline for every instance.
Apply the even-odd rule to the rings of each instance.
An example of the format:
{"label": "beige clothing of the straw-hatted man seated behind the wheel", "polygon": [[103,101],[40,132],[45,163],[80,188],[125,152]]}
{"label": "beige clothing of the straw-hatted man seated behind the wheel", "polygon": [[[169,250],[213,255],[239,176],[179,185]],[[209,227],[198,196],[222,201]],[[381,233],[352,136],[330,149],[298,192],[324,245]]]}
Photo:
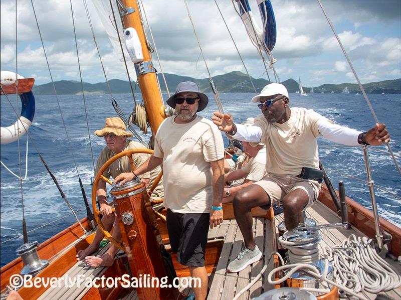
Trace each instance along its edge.
{"label": "beige clothing of the straw-hatted man seated behind the wheel", "polygon": [[[143,149],[143,148],[144,148],[144,146],[141,143],[127,139],[122,151],[131,150],[131,149]],[[113,156],[114,156],[114,153],[111,150],[109,150],[107,147],[104,147],[104,149],[100,153],[100,156],[96,163],[95,177],[96,177],[97,173],[99,172],[100,168],[104,165],[104,163],[106,163]],[[145,153],[133,154],[132,160],[134,161],[135,168],[138,168],[140,165],[142,165],[149,157],[150,157],[150,155],[145,154]],[[160,167],[157,167],[150,172],[146,172],[146,173],[140,175],[139,178],[145,178],[145,179],[149,178],[148,188],[150,188],[153,184],[153,181],[159,174],[160,170],[161,170]],[[124,156],[124,157],[114,161],[103,172],[103,176],[106,178],[110,178],[110,177],[116,178],[121,173],[131,172],[131,171],[132,170],[131,170],[131,165],[129,164],[129,159],[128,159],[128,157]],[[163,196],[164,196],[164,194],[163,194],[163,178],[161,178],[159,184],[154,189],[154,191],[151,195],[151,198],[163,198]]]}

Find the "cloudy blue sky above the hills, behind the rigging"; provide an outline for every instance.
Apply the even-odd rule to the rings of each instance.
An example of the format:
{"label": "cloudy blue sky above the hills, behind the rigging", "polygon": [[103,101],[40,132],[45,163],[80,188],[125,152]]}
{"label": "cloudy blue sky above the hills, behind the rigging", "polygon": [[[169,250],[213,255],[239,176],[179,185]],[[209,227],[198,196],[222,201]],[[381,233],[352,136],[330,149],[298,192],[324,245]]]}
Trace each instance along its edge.
{"label": "cloudy blue sky above the hills, behind the rigging", "polygon": [[[30,1],[18,1],[18,72],[50,81]],[[108,6],[108,0],[104,2]],[[167,73],[208,77],[182,1],[143,1],[162,69]],[[83,2],[73,1],[83,80],[104,82]],[[110,44],[91,1],[87,1],[109,79],[127,79],[119,53]],[[267,78],[256,48],[229,0],[218,1],[253,77]],[[256,1],[250,0],[261,26]],[[300,77],[304,86],[355,82],[317,1],[273,0],[277,42],[273,56],[281,80]],[[401,2],[335,1],[322,4],[333,22],[362,83],[401,77]],[[1,1],[1,69],[16,70],[15,1]],[[79,80],[69,1],[35,1],[54,80]],[[215,2],[188,1],[212,76],[245,72]],[[150,39],[150,37],[149,37]],[[153,57],[156,68],[160,70]],[[131,66],[132,67],[132,66]],[[269,72],[271,78],[273,73]]]}

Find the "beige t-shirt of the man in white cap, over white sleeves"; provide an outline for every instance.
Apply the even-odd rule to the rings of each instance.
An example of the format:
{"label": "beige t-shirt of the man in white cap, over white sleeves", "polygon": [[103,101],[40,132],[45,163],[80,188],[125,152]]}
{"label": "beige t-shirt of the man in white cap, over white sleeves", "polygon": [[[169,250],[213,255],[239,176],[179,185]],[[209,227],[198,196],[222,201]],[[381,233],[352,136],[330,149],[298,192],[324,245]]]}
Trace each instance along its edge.
{"label": "beige t-shirt of the man in white cap, over white sleeves", "polygon": [[283,124],[268,123],[263,114],[255,118],[254,125],[261,127],[261,141],[267,148],[269,176],[297,176],[303,167],[319,169],[316,137],[320,136],[317,124],[321,118],[312,109],[299,107],[291,108],[291,116]]}

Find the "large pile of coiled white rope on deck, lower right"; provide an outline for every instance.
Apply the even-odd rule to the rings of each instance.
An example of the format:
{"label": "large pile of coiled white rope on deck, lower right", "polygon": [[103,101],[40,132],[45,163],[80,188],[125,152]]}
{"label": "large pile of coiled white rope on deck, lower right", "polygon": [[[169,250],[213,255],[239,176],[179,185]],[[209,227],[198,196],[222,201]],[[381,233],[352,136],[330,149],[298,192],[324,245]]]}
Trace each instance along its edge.
{"label": "large pile of coiled white rope on deck, lower right", "polygon": [[341,245],[323,249],[333,262],[335,280],[355,292],[378,293],[399,287],[399,274],[376,253],[371,241],[351,234]]}

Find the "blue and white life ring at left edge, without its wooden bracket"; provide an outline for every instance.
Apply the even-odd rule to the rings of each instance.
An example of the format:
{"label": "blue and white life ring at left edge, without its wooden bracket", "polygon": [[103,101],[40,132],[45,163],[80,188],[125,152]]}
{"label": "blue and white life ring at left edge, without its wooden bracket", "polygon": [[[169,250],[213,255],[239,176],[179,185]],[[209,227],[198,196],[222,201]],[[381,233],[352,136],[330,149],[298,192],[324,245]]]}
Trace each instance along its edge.
{"label": "blue and white life ring at left edge, without its wooden bracket", "polygon": [[[1,84],[11,85],[16,82],[16,73],[9,71],[0,72]],[[18,79],[24,79],[18,75]],[[35,96],[32,91],[20,93],[21,98],[21,116],[13,124],[8,127],[2,127],[0,132],[0,141],[2,144],[8,144],[18,139],[18,136],[24,135],[34,120],[35,115]],[[18,134],[19,130],[19,134]]]}

